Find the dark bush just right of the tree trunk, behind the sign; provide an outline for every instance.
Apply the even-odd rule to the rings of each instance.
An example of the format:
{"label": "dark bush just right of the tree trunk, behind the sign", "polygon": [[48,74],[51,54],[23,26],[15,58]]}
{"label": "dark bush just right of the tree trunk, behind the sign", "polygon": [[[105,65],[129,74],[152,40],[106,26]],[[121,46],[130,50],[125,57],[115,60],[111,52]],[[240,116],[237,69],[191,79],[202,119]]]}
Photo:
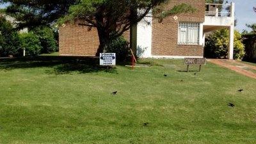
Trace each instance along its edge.
{"label": "dark bush just right of the tree trunk, behind the sign", "polygon": [[120,36],[108,44],[107,52],[116,53],[116,59],[124,61],[129,56],[129,42],[125,40],[124,36]]}

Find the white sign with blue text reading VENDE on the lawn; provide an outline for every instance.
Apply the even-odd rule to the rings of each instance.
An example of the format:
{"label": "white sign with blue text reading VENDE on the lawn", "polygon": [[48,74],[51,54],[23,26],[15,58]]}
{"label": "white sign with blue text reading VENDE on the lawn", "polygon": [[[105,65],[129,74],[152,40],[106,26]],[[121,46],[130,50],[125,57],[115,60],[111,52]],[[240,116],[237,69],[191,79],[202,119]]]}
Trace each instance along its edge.
{"label": "white sign with blue text reading VENDE on the lawn", "polygon": [[116,53],[100,53],[100,65],[116,65]]}

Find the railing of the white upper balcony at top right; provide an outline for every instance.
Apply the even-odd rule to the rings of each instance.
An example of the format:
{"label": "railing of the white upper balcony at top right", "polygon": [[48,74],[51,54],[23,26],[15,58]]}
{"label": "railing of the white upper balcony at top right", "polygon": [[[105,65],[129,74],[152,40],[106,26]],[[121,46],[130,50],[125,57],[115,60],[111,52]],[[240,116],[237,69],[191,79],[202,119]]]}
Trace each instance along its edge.
{"label": "railing of the white upper balcony at top right", "polygon": [[232,17],[232,4],[205,3],[205,16]]}

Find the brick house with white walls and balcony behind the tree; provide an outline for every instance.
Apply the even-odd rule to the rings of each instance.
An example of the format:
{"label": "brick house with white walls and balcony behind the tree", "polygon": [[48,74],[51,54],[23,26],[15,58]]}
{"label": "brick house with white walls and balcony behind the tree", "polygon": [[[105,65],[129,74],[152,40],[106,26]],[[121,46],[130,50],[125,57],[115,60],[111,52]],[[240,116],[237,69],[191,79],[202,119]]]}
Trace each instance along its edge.
{"label": "brick house with white walls and balcony behind the tree", "polygon": [[[225,17],[218,11],[218,4],[205,4],[205,0],[172,0],[166,8],[181,3],[191,4],[197,11],[172,15],[161,22],[146,17],[147,22],[141,20],[137,26],[124,33],[125,38],[131,41],[136,55],[140,58],[202,58],[205,33],[228,28],[228,58],[233,59],[234,3],[228,4],[230,12],[226,12]],[[61,56],[95,56],[98,47],[96,28],[77,25],[60,28]]]}

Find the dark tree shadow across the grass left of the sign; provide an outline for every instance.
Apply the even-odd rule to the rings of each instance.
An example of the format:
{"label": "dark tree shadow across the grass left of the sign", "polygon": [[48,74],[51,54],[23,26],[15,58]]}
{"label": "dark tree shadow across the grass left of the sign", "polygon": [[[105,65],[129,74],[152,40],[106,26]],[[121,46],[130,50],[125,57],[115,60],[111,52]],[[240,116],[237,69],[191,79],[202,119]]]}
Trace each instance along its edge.
{"label": "dark tree shadow across the grass left of the sign", "polygon": [[74,56],[36,56],[24,58],[3,58],[0,60],[0,70],[13,70],[15,68],[38,68],[51,67],[46,70],[47,74],[79,74],[90,72],[109,72],[117,74],[116,68],[106,68],[99,65],[97,57],[74,57]]}

